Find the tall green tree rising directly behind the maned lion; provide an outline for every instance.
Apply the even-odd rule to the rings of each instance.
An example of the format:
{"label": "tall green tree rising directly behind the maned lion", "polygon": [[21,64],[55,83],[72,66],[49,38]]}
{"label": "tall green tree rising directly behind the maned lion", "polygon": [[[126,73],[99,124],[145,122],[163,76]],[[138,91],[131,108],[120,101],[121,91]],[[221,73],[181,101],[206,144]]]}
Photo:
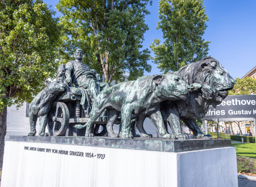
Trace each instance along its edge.
{"label": "tall green tree rising directly behind the maned lion", "polygon": [[165,41],[154,39],[150,48],[161,71],[175,71],[207,56],[210,42],[202,38],[208,21],[203,0],[160,0],[159,19],[157,29]]}

